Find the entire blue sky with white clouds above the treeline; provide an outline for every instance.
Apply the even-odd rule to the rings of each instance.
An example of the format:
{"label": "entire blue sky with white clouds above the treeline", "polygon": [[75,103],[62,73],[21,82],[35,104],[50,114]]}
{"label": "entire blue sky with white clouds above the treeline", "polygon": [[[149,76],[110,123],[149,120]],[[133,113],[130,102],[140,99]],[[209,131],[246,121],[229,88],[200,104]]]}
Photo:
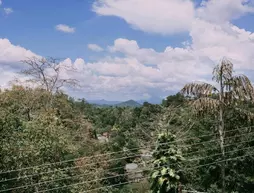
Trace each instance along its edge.
{"label": "entire blue sky with white clouds above the treeline", "polygon": [[223,57],[254,81],[254,0],[0,0],[0,85],[54,57],[88,100],[153,101],[211,83]]}

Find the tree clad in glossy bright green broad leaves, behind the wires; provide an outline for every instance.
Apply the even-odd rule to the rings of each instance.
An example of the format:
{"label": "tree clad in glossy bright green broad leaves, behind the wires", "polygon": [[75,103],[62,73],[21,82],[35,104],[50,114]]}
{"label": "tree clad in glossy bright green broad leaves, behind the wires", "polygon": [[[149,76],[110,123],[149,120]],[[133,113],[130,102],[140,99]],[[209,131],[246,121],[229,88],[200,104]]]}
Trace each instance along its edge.
{"label": "tree clad in glossy bright green broad leaves, behind the wires", "polygon": [[178,149],[175,136],[170,133],[160,134],[153,153],[151,190],[153,193],[180,192],[182,179],[181,163],[184,160]]}

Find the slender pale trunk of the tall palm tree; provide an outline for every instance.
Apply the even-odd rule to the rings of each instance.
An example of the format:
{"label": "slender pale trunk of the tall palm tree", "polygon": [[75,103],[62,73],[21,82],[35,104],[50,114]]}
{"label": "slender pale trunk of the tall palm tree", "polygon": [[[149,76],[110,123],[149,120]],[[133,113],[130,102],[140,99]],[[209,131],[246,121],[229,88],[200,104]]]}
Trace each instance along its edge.
{"label": "slender pale trunk of the tall palm tree", "polygon": [[221,178],[222,178],[222,193],[225,193],[225,148],[224,148],[224,119],[223,119],[223,102],[224,102],[224,85],[222,79],[222,69],[220,74],[220,115],[219,115],[219,135],[220,135],[220,149],[222,154],[221,163]]}

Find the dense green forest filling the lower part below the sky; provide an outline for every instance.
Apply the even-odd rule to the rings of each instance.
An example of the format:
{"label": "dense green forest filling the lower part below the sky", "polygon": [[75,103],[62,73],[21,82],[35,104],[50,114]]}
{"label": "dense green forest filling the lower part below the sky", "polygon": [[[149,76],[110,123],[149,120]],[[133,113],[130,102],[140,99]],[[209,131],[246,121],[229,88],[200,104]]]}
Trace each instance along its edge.
{"label": "dense green forest filling the lower part below the sky", "polygon": [[59,61],[22,62],[0,91],[0,192],[254,192],[254,89],[229,60],[136,107],[75,99]]}

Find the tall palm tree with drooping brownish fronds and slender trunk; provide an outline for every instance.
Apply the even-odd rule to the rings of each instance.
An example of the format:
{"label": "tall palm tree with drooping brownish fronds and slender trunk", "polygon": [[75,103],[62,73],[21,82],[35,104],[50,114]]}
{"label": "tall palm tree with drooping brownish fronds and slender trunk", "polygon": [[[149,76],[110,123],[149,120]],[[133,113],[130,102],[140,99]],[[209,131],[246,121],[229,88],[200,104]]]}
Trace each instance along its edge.
{"label": "tall palm tree with drooping brownish fronds and slender trunk", "polygon": [[[186,84],[181,93],[191,97],[191,105],[199,113],[212,112],[218,117],[218,131],[220,136],[220,150],[225,160],[224,149],[224,112],[229,106],[238,108],[237,101],[253,101],[253,86],[245,75],[233,75],[233,64],[223,58],[214,70],[213,80],[216,86],[198,82]],[[250,115],[250,114],[249,114]],[[222,192],[225,192],[225,162],[221,164]]]}

